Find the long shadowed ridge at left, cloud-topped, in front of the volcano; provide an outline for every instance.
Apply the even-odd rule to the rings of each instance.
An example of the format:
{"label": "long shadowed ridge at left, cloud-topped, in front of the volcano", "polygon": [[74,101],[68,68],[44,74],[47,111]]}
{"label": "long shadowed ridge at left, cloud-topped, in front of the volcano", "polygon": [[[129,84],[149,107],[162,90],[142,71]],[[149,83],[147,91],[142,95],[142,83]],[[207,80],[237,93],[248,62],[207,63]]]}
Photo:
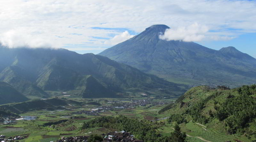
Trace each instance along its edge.
{"label": "long shadowed ridge at left, cloud-topped, in front of the volcano", "polygon": [[49,97],[45,91],[70,91],[84,98],[115,98],[131,89],[165,95],[185,92],[180,84],[107,57],[65,49],[0,47],[0,80],[25,96],[41,98]]}

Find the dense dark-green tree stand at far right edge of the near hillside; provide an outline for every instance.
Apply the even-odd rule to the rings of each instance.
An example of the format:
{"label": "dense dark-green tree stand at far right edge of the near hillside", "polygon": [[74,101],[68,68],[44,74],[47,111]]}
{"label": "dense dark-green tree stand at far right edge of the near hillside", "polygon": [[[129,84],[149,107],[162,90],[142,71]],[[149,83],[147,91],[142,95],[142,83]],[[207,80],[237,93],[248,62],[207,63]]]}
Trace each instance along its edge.
{"label": "dense dark-green tree stand at far right edge of the near hillside", "polygon": [[215,116],[225,122],[229,134],[243,134],[244,128],[249,127],[249,123],[255,122],[256,118],[256,99],[252,97],[256,94],[256,85],[242,86],[237,92],[236,97],[226,99],[220,107],[216,107]]}

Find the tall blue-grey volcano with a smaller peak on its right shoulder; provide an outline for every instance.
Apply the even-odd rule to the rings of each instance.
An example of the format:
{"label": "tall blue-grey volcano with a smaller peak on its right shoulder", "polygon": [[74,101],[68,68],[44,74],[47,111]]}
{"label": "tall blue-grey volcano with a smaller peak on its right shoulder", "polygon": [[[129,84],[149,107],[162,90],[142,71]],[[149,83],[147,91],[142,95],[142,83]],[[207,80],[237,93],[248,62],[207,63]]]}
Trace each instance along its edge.
{"label": "tall blue-grey volcano with a smaller peak on its right shoulder", "polygon": [[194,42],[159,39],[167,28],[152,25],[99,55],[176,83],[230,87],[256,83],[253,57],[234,47],[217,51]]}

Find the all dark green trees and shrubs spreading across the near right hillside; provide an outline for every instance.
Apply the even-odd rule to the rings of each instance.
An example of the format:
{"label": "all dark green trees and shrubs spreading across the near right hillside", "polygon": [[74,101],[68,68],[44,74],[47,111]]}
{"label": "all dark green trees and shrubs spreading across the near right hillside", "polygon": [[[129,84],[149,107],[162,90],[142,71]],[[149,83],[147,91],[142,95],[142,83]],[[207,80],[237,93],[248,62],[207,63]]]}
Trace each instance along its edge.
{"label": "all dark green trees and shrubs spreading across the near right hillside", "polygon": [[[225,89],[225,87],[221,86],[219,88]],[[168,122],[175,121],[178,124],[186,122],[185,115],[189,115],[189,118],[192,118],[193,121],[203,124],[207,124],[217,118],[225,123],[228,134],[248,134],[248,137],[250,137],[249,135],[255,135],[256,84],[244,85],[235,91],[232,90],[224,93],[229,93],[229,95],[223,102],[216,101],[220,95],[223,95],[223,92],[216,91],[207,98],[191,104],[183,114],[172,114]],[[233,94],[231,95],[231,93]],[[206,115],[203,113],[203,110],[206,103],[210,100],[213,100],[215,111],[209,110],[208,115]]]}

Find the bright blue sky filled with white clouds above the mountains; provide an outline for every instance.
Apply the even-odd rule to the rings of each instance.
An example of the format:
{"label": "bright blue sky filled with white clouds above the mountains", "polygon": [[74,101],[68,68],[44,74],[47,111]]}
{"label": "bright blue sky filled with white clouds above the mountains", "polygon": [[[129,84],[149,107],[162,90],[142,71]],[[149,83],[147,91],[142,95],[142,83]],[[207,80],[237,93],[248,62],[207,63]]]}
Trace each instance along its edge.
{"label": "bright blue sky filled with white clouds above the mountains", "polygon": [[0,42],[10,48],[97,54],[165,24],[163,40],[234,46],[256,58],[255,0],[8,0],[0,1],[0,19]]}

